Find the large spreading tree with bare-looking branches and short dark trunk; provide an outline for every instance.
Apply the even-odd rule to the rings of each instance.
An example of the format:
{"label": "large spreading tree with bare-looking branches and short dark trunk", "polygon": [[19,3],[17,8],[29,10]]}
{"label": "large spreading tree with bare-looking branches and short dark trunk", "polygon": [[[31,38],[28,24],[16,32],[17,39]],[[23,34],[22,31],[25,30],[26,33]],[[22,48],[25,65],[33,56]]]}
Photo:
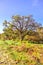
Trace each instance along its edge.
{"label": "large spreading tree with bare-looking branches and short dark trunk", "polygon": [[[35,22],[32,15],[30,16],[12,16],[12,21],[7,22],[4,21],[3,25],[5,26],[4,29],[12,29],[12,31],[17,31],[15,35],[18,35],[19,39],[22,41],[24,37],[29,33],[30,30],[36,31],[40,25]],[[12,33],[13,34],[13,33]]]}

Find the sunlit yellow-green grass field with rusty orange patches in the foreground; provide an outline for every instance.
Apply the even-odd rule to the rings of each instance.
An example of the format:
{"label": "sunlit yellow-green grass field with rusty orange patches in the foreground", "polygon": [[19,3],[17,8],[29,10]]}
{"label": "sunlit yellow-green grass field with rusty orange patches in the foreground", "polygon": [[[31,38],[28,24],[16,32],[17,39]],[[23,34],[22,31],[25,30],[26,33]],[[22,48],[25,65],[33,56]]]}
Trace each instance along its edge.
{"label": "sunlit yellow-green grass field with rusty orange patches in the foreground", "polygon": [[43,44],[0,40],[0,65],[43,65]]}

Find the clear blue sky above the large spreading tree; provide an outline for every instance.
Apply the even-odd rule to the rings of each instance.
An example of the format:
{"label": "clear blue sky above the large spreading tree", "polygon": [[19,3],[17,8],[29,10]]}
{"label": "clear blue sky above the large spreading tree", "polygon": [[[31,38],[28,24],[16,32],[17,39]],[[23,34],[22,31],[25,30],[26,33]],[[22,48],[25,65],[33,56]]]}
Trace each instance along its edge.
{"label": "clear blue sky above the large spreading tree", "polygon": [[33,15],[43,25],[43,0],[0,0],[0,33],[3,21],[12,15]]}

